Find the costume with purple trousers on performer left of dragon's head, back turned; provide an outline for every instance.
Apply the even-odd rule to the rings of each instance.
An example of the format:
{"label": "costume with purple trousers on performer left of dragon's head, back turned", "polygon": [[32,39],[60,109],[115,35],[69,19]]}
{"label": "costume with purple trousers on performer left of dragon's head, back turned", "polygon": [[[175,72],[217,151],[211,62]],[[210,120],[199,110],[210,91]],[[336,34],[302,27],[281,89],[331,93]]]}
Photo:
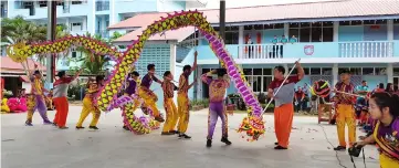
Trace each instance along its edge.
{"label": "costume with purple trousers on performer left of dragon's head, back turned", "polygon": [[218,117],[222,120],[222,139],[228,138],[228,116],[224,108],[225,90],[230,86],[227,80],[212,80],[208,77],[211,72],[203,74],[201,80],[209,85],[209,114],[208,114],[208,136],[207,139],[213,138],[214,127]]}

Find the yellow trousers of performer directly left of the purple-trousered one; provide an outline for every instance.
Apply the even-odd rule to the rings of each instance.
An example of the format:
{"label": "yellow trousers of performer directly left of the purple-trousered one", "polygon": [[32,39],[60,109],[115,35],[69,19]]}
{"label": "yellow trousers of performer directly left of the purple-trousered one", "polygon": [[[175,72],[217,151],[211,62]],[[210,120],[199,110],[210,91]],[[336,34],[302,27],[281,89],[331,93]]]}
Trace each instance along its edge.
{"label": "yellow trousers of performer directly left of the purple-trousered one", "polygon": [[181,134],[187,132],[188,122],[190,119],[190,99],[187,94],[177,94],[177,106],[178,106],[178,115],[179,115],[179,125],[178,130]]}

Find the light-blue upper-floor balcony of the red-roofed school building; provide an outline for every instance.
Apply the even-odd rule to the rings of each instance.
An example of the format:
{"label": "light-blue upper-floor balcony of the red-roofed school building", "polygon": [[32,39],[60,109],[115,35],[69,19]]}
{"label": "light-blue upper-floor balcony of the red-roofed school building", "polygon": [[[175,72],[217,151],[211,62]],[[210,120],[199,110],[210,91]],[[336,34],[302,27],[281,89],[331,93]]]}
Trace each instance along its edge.
{"label": "light-blue upper-floor balcony of the red-roofed school building", "polygon": [[[225,48],[238,63],[292,63],[300,57],[308,63],[399,62],[399,41],[230,44]],[[217,62],[208,45],[197,50],[203,64]]]}

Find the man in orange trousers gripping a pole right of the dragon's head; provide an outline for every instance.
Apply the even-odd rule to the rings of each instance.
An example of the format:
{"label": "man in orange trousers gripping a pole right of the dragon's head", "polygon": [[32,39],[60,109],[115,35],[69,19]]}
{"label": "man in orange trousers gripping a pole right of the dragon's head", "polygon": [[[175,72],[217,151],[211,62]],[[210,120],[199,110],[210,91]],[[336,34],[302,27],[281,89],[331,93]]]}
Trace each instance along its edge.
{"label": "man in orange trousers gripping a pole right of the dragon's head", "polygon": [[[305,73],[298,62],[295,62],[297,74],[288,76],[285,83],[284,73],[285,69],[283,66],[274,67],[274,80],[269,85],[267,96],[274,96],[274,129],[275,136],[277,137],[277,145],[274,149],[287,149],[290,134],[292,129],[292,122],[294,117],[294,93],[295,93],[295,84],[300,82]],[[282,85],[281,90],[277,92],[279,87]],[[277,92],[277,93],[276,93]]]}

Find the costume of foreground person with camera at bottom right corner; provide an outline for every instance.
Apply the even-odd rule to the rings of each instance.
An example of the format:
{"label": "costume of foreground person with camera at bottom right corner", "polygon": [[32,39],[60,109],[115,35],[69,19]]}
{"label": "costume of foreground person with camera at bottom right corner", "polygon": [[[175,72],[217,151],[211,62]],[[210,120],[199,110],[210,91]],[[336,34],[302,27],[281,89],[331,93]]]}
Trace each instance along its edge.
{"label": "costume of foreground person with camera at bottom right corner", "polygon": [[381,168],[399,167],[399,118],[392,120],[389,126],[377,123],[374,138],[379,146],[379,161]]}

